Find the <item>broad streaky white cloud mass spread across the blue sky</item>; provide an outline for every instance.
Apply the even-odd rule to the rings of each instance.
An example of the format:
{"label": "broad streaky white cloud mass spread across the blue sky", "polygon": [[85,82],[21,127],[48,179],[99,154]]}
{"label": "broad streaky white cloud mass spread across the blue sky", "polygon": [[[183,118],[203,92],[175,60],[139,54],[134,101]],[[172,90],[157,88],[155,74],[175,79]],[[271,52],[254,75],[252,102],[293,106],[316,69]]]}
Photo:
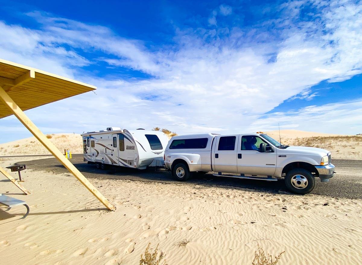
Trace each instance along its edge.
{"label": "broad streaky white cloud mass spread across the blue sky", "polygon": [[[228,38],[221,38],[217,27],[177,29],[174,46],[159,46],[153,51],[142,41],[119,37],[102,26],[33,12],[30,15],[42,24],[40,30],[0,22],[0,58],[98,87],[96,94],[29,110],[35,123],[45,128],[82,132],[109,126],[159,126],[177,133],[267,130],[275,123],[272,116],[265,120],[262,115],[283,101],[291,97],[311,99],[317,93],[311,91],[312,85],[361,73],[362,6],[341,2],[336,7],[336,3],[317,6],[319,19],[307,23],[293,20],[298,17],[301,3],[290,2],[290,6],[282,7],[285,17],[265,22],[280,28],[276,39],[258,27],[234,28]],[[212,13],[215,26],[216,14]],[[326,29],[328,34],[323,33]],[[270,41],[260,43],[259,39]],[[24,45],[19,45],[19,40]],[[270,54],[274,59],[268,62]],[[106,80],[79,71],[100,60],[155,78]],[[311,109],[292,113],[293,119],[283,126],[311,130],[310,123],[299,122],[298,118],[304,117],[307,110]],[[328,110],[322,108],[320,112]],[[351,121],[361,118],[352,109],[349,115]],[[331,132],[350,125],[344,119],[334,121],[339,124],[334,129],[328,127]],[[0,126],[8,123],[8,119],[0,120]],[[328,119],[320,120],[321,129],[327,123]]]}

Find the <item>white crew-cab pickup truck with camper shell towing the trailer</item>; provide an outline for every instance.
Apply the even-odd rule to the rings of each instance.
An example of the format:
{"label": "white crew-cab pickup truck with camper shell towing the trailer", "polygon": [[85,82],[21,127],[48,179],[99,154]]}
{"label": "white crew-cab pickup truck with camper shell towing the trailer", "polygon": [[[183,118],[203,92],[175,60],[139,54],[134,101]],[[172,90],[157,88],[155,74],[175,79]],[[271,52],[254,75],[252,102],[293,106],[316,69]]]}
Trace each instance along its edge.
{"label": "white crew-cab pickup truck with camper shell towing the trailer", "polygon": [[[270,136],[256,134],[193,134],[173,136],[165,149],[165,166],[177,180],[191,172],[216,176],[277,181],[285,179],[294,193],[310,193],[315,177],[333,177],[331,153],[321,148],[285,146]],[[231,173],[223,174],[223,173]]]}

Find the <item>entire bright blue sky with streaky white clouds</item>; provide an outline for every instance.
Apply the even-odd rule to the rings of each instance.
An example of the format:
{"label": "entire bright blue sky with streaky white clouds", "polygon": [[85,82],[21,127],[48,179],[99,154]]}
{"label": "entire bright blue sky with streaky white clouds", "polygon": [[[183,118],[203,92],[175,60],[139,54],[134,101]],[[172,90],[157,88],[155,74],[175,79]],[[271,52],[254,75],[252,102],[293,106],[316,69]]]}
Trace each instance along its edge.
{"label": "entire bright blue sky with streaky white clouds", "polygon": [[98,88],[27,111],[44,133],[362,133],[361,1],[30,3],[0,0],[0,58]]}

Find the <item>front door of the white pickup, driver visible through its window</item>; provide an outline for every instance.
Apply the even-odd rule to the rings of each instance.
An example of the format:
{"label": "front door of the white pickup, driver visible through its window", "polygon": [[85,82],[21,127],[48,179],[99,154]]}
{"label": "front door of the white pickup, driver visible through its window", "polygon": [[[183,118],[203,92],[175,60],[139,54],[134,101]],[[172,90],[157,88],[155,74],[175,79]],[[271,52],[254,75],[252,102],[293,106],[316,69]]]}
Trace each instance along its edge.
{"label": "front door of the white pickup, driver visible through its window", "polygon": [[[260,151],[261,144],[266,152]],[[239,174],[273,176],[277,163],[277,148],[257,135],[239,135],[237,172]]]}

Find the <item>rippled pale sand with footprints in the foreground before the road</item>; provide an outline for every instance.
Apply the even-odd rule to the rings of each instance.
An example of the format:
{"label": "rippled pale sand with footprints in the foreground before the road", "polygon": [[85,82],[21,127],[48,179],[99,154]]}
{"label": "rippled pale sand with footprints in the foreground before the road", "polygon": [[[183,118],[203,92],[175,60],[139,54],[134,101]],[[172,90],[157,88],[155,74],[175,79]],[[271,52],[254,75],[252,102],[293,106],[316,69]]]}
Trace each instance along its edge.
{"label": "rippled pale sand with footprints in the foreground before the road", "polygon": [[30,206],[22,220],[23,206],[0,212],[1,264],[138,264],[149,242],[169,265],[251,264],[258,244],[273,256],[285,251],[279,264],[362,260],[362,200],[90,179],[117,207],[108,212],[70,174],[25,176],[31,195],[0,180]]}

